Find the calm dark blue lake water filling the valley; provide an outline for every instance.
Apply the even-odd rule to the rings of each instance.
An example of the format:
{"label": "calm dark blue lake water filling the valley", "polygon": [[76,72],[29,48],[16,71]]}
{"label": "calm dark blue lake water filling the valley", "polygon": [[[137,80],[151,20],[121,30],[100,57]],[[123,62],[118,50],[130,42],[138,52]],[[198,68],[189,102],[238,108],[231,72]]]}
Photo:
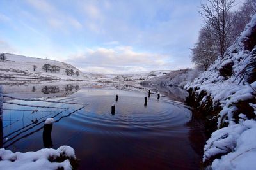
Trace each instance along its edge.
{"label": "calm dark blue lake water filling the valley", "polygon": [[[202,150],[202,146],[198,143],[202,142],[202,134],[199,127],[190,122],[191,111],[166,95],[170,89],[160,90],[166,97],[159,101],[156,94],[151,94],[144,106],[145,90],[119,87],[44,83],[26,87],[5,85],[8,96],[24,99],[37,96],[48,101],[82,104],[4,97],[7,102],[3,104],[4,134],[0,137],[3,147],[13,152],[44,148],[44,120],[54,117],[57,122],[52,129],[52,148],[72,146],[80,159],[79,169],[199,169],[202,153],[198,150]],[[24,90],[17,90],[22,88]],[[116,94],[118,101],[115,101]],[[115,114],[111,114],[113,103]],[[33,113],[35,109],[38,111]]]}

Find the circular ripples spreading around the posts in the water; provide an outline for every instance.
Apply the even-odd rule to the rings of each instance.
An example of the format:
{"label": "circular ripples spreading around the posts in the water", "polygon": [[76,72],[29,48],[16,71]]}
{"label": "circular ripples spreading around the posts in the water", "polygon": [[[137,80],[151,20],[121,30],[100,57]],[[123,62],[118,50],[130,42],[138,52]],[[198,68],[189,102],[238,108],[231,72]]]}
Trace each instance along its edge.
{"label": "circular ripples spreading around the posts in the water", "polygon": [[[190,120],[191,112],[181,104],[168,100],[149,98],[144,106],[144,97],[79,96],[68,99],[76,103],[88,103],[62,123],[79,131],[112,136],[172,136],[184,133],[180,128]],[[115,103],[115,115],[111,106]]]}

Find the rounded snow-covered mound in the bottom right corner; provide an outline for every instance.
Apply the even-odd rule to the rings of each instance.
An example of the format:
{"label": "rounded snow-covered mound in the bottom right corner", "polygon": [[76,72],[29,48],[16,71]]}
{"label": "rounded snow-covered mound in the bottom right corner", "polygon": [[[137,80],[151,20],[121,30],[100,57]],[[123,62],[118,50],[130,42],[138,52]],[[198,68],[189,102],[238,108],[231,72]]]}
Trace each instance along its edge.
{"label": "rounded snow-covered mound in the bottom right corner", "polygon": [[204,161],[223,155],[212,162],[212,169],[255,169],[256,121],[246,120],[212,133],[205,145]]}

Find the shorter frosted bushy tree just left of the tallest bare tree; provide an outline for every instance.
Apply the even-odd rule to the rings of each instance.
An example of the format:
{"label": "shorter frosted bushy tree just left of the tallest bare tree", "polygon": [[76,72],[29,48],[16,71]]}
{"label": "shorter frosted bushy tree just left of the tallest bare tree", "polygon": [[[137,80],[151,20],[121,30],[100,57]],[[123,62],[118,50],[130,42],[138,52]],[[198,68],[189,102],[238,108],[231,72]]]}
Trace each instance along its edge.
{"label": "shorter frosted bushy tree just left of the tallest bare tree", "polygon": [[198,42],[192,48],[192,62],[207,70],[207,68],[216,60],[220,53],[216,52],[216,46],[211,41],[211,34],[204,27],[199,32]]}

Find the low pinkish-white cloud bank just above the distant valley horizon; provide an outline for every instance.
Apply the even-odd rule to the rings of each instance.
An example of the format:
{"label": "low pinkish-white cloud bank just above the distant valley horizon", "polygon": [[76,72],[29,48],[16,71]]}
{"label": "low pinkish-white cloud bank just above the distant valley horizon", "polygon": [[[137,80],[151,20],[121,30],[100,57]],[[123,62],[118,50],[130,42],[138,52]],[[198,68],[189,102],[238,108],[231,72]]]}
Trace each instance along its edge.
{"label": "low pinkish-white cloud bank just above the distant valley horizon", "polygon": [[107,73],[140,73],[155,69],[170,69],[169,56],[134,52],[131,46],[86,49],[65,60],[82,71]]}

